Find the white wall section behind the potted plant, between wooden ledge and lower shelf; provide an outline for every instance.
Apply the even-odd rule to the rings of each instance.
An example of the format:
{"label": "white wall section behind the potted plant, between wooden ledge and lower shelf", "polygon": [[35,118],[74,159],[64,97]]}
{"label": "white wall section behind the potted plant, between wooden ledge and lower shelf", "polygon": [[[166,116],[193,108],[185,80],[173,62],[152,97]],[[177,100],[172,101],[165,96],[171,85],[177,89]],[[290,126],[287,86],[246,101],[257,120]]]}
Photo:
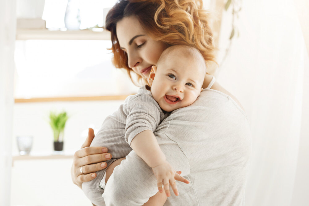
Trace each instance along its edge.
{"label": "white wall section behind the potted plant, between wooden ledge and lower shelf", "polygon": [[33,152],[52,151],[53,132],[49,125],[49,112],[62,110],[69,116],[64,130],[64,149],[76,151],[87,137],[88,127],[99,129],[105,117],[112,114],[123,101],[15,103],[13,153],[18,152],[16,136],[19,135],[33,136]]}

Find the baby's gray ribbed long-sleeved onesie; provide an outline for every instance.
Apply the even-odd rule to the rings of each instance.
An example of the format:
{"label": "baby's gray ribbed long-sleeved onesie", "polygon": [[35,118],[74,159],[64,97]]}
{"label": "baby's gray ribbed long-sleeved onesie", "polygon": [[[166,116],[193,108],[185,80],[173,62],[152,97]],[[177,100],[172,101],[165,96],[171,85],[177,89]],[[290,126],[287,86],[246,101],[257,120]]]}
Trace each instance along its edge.
{"label": "baby's gray ribbed long-sleeved onesie", "polygon": [[[150,89],[148,87],[148,89]],[[130,95],[112,115],[108,116],[90,146],[104,146],[112,154],[112,159],[106,161],[109,166],[113,161],[123,158],[132,150],[130,147],[133,138],[140,132],[151,130],[155,132],[159,123],[170,112],[163,112],[159,104],[153,99],[150,90],[143,86],[138,94]],[[105,186],[106,169],[100,170],[97,177],[82,184],[83,192],[92,203],[97,206],[105,205],[102,194]]]}

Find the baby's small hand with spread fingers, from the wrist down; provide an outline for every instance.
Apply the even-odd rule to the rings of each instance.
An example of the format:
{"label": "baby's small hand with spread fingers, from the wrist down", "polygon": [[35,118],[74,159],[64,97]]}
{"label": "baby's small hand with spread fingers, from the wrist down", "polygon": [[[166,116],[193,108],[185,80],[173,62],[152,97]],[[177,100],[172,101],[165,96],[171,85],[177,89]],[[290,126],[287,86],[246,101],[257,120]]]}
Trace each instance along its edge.
{"label": "baby's small hand with spread fingers, from the wrist down", "polygon": [[169,197],[171,196],[170,194],[170,184],[171,187],[175,193],[176,196],[179,195],[177,187],[176,187],[176,181],[181,181],[184,183],[190,183],[187,179],[181,177],[179,174],[181,172],[176,172],[173,167],[168,163],[164,163],[158,166],[155,166],[152,168],[153,173],[155,174],[155,177],[157,178],[157,185],[158,185],[158,189],[159,192],[162,193],[162,183],[164,185],[164,190],[166,193],[166,196]]}

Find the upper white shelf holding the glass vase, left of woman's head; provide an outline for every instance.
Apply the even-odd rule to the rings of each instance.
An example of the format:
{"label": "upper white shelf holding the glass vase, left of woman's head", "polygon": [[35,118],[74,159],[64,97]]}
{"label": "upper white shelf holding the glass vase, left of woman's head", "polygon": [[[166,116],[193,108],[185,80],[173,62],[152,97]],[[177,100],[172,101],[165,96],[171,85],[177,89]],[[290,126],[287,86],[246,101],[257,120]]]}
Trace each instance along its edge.
{"label": "upper white shelf holding the glass vase, left of woman's head", "polygon": [[111,40],[111,33],[107,30],[94,32],[88,29],[77,31],[17,29],[16,40]]}

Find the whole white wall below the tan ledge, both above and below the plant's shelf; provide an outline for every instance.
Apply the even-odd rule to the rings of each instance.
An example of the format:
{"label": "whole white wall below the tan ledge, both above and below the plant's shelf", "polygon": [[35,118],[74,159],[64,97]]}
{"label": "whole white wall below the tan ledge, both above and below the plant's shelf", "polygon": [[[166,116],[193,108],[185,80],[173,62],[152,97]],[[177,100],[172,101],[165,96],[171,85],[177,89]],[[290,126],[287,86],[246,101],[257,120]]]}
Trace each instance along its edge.
{"label": "whole white wall below the tan ledge, both above and below the plant's shelf", "polygon": [[[64,151],[74,154],[87,136],[88,127],[99,129],[106,116],[123,100],[49,103],[15,103],[13,116],[13,153],[18,153],[17,135],[32,135],[32,154],[52,153],[53,133],[48,124],[50,110],[68,112]],[[83,133],[84,132],[84,133]],[[12,167],[11,205],[91,205],[72,183],[73,159],[18,160]]]}

